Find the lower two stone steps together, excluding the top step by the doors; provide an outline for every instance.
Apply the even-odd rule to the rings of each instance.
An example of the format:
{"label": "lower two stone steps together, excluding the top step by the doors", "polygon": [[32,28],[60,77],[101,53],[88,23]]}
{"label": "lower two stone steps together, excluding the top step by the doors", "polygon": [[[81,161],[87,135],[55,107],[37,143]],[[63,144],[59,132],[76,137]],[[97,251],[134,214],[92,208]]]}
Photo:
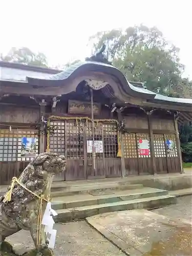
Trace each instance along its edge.
{"label": "lower two stone steps together, excluding the top step by the doors", "polygon": [[52,208],[57,211],[56,222],[83,220],[86,217],[102,214],[104,212],[132,209],[153,209],[176,203],[176,198],[168,191],[135,186],[125,190],[120,188],[95,189],[87,193],[54,197]]}

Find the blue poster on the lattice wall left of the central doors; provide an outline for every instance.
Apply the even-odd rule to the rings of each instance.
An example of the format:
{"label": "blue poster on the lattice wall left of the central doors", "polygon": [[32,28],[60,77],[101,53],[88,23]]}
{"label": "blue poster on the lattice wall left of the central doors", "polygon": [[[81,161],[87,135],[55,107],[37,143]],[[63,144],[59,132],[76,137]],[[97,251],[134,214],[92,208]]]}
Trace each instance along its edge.
{"label": "blue poster on the lattice wall left of the central doors", "polygon": [[22,157],[36,156],[36,138],[22,138]]}

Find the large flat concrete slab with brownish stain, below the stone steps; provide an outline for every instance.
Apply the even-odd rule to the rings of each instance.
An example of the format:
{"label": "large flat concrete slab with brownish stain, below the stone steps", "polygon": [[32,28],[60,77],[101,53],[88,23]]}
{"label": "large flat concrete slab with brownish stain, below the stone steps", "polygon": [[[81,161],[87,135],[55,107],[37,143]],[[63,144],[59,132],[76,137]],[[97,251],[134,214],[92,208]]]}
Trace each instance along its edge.
{"label": "large flat concrete slab with brownish stain, below the stone steps", "polygon": [[105,213],[86,220],[126,255],[192,255],[192,226],[182,221],[144,209]]}

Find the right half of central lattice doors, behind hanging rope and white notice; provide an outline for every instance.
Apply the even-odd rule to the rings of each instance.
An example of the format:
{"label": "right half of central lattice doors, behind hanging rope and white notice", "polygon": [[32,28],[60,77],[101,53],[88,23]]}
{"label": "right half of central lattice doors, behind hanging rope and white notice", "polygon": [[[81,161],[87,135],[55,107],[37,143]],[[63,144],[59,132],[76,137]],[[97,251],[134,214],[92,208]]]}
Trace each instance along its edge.
{"label": "right half of central lattice doors, behind hanging rope and white notice", "polygon": [[[86,126],[86,141],[91,141],[92,123]],[[92,153],[86,154],[86,170],[88,178],[120,177],[121,160],[117,158],[117,124],[95,123],[95,137],[97,143],[102,144],[102,152],[96,153],[96,172],[93,172]],[[88,146],[87,146],[88,152]]]}

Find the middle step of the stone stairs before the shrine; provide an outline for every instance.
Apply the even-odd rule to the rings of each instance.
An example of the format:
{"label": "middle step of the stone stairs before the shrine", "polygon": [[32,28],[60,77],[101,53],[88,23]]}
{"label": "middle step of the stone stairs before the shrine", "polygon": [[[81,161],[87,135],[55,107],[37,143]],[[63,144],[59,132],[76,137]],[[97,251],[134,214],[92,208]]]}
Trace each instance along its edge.
{"label": "middle step of the stone stairs before the shrine", "polygon": [[168,191],[145,187],[139,189],[114,191],[113,194],[93,196],[90,194],[55,197],[53,198],[52,208],[55,210],[82,207],[88,205],[114,203],[128,201],[146,197],[157,197],[168,195]]}

